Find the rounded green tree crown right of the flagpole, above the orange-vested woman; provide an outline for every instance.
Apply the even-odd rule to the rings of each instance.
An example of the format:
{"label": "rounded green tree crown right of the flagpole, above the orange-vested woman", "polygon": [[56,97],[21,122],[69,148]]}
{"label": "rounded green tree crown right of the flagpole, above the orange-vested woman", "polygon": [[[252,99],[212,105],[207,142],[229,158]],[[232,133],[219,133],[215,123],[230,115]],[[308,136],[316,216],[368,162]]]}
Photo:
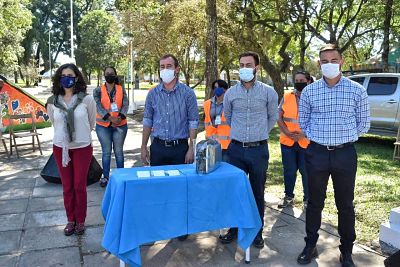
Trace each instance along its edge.
{"label": "rounded green tree crown right of the flagpole, above the orange-vested woman", "polygon": [[78,28],[82,40],[76,51],[82,67],[101,71],[106,66],[116,65],[120,54],[122,37],[116,19],[106,11],[95,10],[86,14]]}

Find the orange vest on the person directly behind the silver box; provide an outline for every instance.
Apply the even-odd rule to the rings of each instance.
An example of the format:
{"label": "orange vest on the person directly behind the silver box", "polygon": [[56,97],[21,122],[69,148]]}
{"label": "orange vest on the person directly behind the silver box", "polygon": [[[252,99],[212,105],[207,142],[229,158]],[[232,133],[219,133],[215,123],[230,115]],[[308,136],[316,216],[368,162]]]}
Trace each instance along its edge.
{"label": "orange vest on the person directly behind the silver box", "polygon": [[231,127],[226,122],[224,112],[221,115],[221,124],[216,127],[213,126],[210,116],[211,99],[203,104],[204,107],[204,128],[206,129],[206,138],[215,139],[221,144],[222,149],[227,149],[230,139]]}

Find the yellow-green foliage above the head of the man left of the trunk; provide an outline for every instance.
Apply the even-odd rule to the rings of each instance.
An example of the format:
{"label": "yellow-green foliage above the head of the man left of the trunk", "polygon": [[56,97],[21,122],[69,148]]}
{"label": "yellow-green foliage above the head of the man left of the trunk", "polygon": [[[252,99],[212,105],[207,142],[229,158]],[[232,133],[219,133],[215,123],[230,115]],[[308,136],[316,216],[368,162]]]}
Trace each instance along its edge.
{"label": "yellow-green foliage above the head of the man left of the trunk", "polygon": [[[178,58],[186,83],[204,60],[206,33],[205,1],[118,1],[122,23],[132,41],[139,65],[158,68],[167,53]],[[150,56],[150,57],[149,57]],[[200,69],[201,76],[203,69]]]}

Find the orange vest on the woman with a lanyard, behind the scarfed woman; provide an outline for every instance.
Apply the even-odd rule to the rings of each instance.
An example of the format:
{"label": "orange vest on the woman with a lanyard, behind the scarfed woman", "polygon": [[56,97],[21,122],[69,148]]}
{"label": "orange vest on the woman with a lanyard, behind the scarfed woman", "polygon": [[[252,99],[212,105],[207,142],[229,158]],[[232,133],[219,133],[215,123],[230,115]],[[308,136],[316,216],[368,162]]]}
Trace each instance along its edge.
{"label": "orange vest on the woman with a lanyard, behind the scarfed woman", "polygon": [[[122,86],[116,84],[115,85],[115,99],[114,102],[117,104],[118,109],[120,110],[122,107],[122,101],[123,101],[123,97],[124,97],[124,92],[122,91]],[[110,97],[108,96],[108,92],[107,92],[107,87],[105,84],[103,84],[101,86],[101,105],[103,106],[103,108],[105,110],[108,111],[108,113],[110,114],[110,116],[117,118],[119,112],[112,112],[111,111],[111,102],[110,102]],[[96,115],[96,123],[98,125],[104,126],[104,127],[108,127],[110,125],[109,121],[105,121],[103,120],[103,116],[101,116],[99,113],[97,113]],[[118,124],[117,126],[122,126],[126,124],[126,119],[122,120],[120,124]]]}

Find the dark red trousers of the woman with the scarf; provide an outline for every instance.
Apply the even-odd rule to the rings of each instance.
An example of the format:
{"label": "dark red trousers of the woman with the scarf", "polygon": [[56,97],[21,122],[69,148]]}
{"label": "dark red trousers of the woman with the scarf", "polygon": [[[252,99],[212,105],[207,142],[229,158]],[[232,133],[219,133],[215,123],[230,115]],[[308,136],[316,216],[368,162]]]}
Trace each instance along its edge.
{"label": "dark red trousers of the woman with the scarf", "polygon": [[71,161],[62,166],[62,148],[53,145],[53,155],[63,186],[64,207],[69,222],[84,223],[87,209],[86,177],[92,160],[93,147],[70,149]]}

